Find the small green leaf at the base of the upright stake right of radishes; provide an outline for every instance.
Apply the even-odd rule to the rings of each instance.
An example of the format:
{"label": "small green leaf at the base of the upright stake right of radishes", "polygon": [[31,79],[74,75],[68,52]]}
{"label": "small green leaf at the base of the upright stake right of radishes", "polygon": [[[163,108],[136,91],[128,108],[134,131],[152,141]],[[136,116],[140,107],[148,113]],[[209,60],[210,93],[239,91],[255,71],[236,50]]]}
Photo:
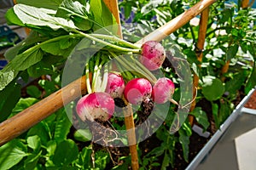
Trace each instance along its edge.
{"label": "small green leaf at the base of the upright stake right of radishes", "polygon": [[195,107],[193,111],[189,113],[190,115],[195,116],[196,122],[201,124],[204,130],[207,130],[207,127],[210,126],[210,122],[208,121],[207,113],[201,110],[201,107]]}

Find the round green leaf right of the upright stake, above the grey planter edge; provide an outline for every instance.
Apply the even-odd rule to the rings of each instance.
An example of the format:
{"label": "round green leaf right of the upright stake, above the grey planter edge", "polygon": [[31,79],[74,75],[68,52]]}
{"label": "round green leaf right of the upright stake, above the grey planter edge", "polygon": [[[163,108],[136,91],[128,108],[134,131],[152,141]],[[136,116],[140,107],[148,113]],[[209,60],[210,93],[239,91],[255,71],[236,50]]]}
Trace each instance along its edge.
{"label": "round green leaf right of the upright stake, above the grey planter edge", "polygon": [[203,77],[202,94],[209,101],[219,99],[224,94],[224,84],[216,77]]}

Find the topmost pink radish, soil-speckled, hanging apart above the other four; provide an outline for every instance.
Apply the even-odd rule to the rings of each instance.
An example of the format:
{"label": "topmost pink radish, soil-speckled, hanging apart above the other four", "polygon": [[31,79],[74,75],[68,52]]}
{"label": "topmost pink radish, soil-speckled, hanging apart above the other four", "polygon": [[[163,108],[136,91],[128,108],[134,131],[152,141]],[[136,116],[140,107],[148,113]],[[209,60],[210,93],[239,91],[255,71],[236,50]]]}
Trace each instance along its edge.
{"label": "topmost pink radish, soil-speckled, hanging apart above the other four", "polygon": [[159,69],[165,59],[166,50],[160,42],[148,41],[143,43],[140,61],[149,71]]}

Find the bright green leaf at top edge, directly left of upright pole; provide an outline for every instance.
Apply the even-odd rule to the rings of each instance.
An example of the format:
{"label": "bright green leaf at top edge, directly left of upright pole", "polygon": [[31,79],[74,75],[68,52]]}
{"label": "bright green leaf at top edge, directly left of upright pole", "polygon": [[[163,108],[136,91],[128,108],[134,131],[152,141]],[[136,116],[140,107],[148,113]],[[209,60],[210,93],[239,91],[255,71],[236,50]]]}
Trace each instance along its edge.
{"label": "bright green leaf at top edge, directly left of upright pole", "polygon": [[[94,16],[96,23],[105,26],[113,26],[116,24],[116,20],[113,17],[113,14],[110,12],[106,4],[102,0],[90,1],[90,11]],[[94,25],[94,31],[102,28],[97,25]]]}

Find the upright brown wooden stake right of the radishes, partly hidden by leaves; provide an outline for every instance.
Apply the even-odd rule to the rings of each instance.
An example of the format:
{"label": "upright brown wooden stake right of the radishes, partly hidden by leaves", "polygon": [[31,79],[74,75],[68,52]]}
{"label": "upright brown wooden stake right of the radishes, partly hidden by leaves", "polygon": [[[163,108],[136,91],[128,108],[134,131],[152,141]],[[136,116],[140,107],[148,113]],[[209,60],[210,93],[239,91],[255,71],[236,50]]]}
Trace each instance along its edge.
{"label": "upright brown wooden stake right of the radishes, partly hidden by leaves", "polygon": [[[202,58],[203,58],[203,49],[204,49],[204,44],[206,40],[206,35],[207,35],[207,24],[208,24],[208,17],[209,17],[209,8],[206,8],[205,10],[202,11],[201,13],[201,19],[200,19],[200,26],[199,26],[199,32],[198,32],[198,41],[196,44],[196,56],[197,60],[201,63]],[[201,67],[201,65],[198,65]],[[193,77],[193,97],[195,98],[196,94],[196,89],[198,88],[198,82],[199,82],[199,77],[195,74]],[[193,98],[193,99],[194,99]],[[194,100],[191,104],[190,111],[193,111],[195,109],[196,101]],[[189,116],[189,123],[190,125],[193,125],[194,122],[194,116]]]}

